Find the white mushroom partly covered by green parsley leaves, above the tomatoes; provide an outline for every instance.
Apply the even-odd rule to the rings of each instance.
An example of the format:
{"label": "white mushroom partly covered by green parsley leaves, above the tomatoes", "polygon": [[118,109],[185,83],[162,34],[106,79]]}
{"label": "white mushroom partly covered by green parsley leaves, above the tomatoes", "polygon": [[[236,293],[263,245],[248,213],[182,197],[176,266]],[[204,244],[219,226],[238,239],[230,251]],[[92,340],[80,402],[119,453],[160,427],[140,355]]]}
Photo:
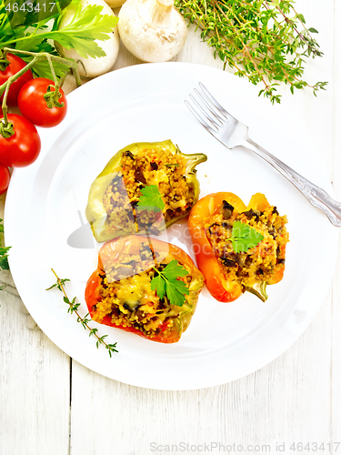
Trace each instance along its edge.
{"label": "white mushroom partly covered by green parsley leaves, above the tomatoes", "polygon": [[[81,0],[82,9],[87,5],[101,5],[103,10],[101,14],[103,15],[114,15],[111,8],[106,5],[104,0]],[[65,13],[58,25],[58,30],[63,29],[66,25],[70,24],[74,15],[75,15],[76,5],[68,5],[65,8]],[[59,43],[55,43],[55,47],[61,56],[65,58],[73,58],[75,61],[81,62],[78,63],[78,70],[81,76],[86,77],[96,77],[101,76],[107,73],[115,64],[117,58],[118,49],[119,49],[119,35],[117,31],[117,26],[115,26],[114,31],[110,34],[110,38],[106,41],[95,40],[95,43],[102,47],[105,51],[105,56],[93,58],[88,56],[87,58],[80,56],[75,49],[65,49]]]}

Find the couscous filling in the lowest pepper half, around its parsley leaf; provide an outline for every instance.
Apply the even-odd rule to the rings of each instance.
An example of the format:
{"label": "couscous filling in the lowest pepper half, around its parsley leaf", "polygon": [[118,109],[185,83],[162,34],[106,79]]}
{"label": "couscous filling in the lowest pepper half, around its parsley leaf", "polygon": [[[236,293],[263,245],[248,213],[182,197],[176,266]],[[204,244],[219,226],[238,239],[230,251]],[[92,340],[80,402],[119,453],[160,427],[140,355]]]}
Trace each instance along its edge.
{"label": "couscous filling in the lowest pepper half, around its parsley leaf", "polygon": [[164,269],[172,258],[157,260],[158,254],[143,243],[139,255],[124,254],[120,262],[105,269],[100,274],[101,299],[93,308],[92,319],[101,323],[108,316],[115,326],[140,330],[148,338],[161,332],[166,337],[179,317],[193,310],[188,302],[194,298],[195,291],[191,291],[192,277],[188,274],[181,278],[190,290],[186,296],[188,302],[183,307],[171,305],[166,296],[160,299],[151,288],[151,280],[157,274],[156,270]]}

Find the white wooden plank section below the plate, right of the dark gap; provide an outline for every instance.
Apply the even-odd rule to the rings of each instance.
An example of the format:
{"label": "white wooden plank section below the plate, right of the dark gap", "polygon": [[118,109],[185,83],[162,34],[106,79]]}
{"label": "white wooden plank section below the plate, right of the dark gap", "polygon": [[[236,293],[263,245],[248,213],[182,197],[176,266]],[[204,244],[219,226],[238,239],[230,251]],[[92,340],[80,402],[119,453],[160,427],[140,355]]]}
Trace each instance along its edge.
{"label": "white wooden plank section below the plate, right of the dark gap", "polygon": [[[276,443],[288,447],[295,441],[328,441],[330,347],[321,342],[321,334],[330,332],[328,305],[326,300],[306,333],[284,355],[220,387],[140,389],[74,362],[71,455],[85,450],[92,455],[146,454],[152,443],[182,441],[196,446],[216,441],[244,447],[270,444],[274,451]],[[93,417],[86,419],[85,413]]]}

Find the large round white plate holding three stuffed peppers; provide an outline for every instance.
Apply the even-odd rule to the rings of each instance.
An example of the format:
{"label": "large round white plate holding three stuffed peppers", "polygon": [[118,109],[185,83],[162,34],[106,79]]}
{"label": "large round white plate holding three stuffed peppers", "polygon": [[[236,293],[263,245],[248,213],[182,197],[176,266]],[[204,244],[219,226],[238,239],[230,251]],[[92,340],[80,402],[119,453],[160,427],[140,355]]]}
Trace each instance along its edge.
{"label": "large round white plate holding three stuffed peppers", "polygon": [[[184,98],[198,81],[250,126],[256,141],[333,193],[314,147],[294,132],[287,118],[275,115],[268,101],[256,96],[257,88],[207,66],[167,63],[126,67],[69,95],[65,121],[40,129],[41,155],[33,166],[15,169],[5,205],[5,240],[13,246],[10,267],[36,323],[87,368],[140,387],[197,389],[263,367],[313,319],[336,261],[337,229],[326,216],[263,160],[242,148],[223,147],[187,111]],[[276,132],[276,122],[282,131],[286,126],[286,135]],[[67,313],[61,293],[45,288],[55,281],[51,272],[55,268],[59,277],[71,279],[67,293],[82,302],[85,315],[85,282],[96,267],[95,244],[73,248],[67,239],[81,227],[80,215],[85,220],[90,184],[120,148],[168,138],[185,153],[208,156],[198,166],[201,196],[231,191],[247,204],[254,193],[262,192],[281,214],[287,214],[290,243],[285,278],[268,287],[265,304],[252,295],[222,304],[204,290],[189,329],[174,345],[92,323],[101,335],[108,335],[108,342],[117,341],[119,353],[110,359]],[[88,226],[83,233],[89,234]],[[186,222],[167,235],[191,254]]]}

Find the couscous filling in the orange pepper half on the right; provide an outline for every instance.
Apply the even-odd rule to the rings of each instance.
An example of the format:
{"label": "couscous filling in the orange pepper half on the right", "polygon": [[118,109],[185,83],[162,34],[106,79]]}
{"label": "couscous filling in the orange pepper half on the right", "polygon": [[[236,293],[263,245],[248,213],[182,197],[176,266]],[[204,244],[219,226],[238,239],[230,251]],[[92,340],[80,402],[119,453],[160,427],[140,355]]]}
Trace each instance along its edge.
{"label": "couscous filling in the orange pepper half on the right", "polygon": [[[260,232],[264,239],[256,247],[236,253],[228,240],[236,220]],[[234,207],[223,201],[218,213],[206,220],[205,229],[226,280],[238,282],[244,289],[263,281],[276,282],[276,274],[285,263],[286,223],[286,216],[281,217],[274,206],[266,207],[263,212],[250,209],[238,214]]]}

